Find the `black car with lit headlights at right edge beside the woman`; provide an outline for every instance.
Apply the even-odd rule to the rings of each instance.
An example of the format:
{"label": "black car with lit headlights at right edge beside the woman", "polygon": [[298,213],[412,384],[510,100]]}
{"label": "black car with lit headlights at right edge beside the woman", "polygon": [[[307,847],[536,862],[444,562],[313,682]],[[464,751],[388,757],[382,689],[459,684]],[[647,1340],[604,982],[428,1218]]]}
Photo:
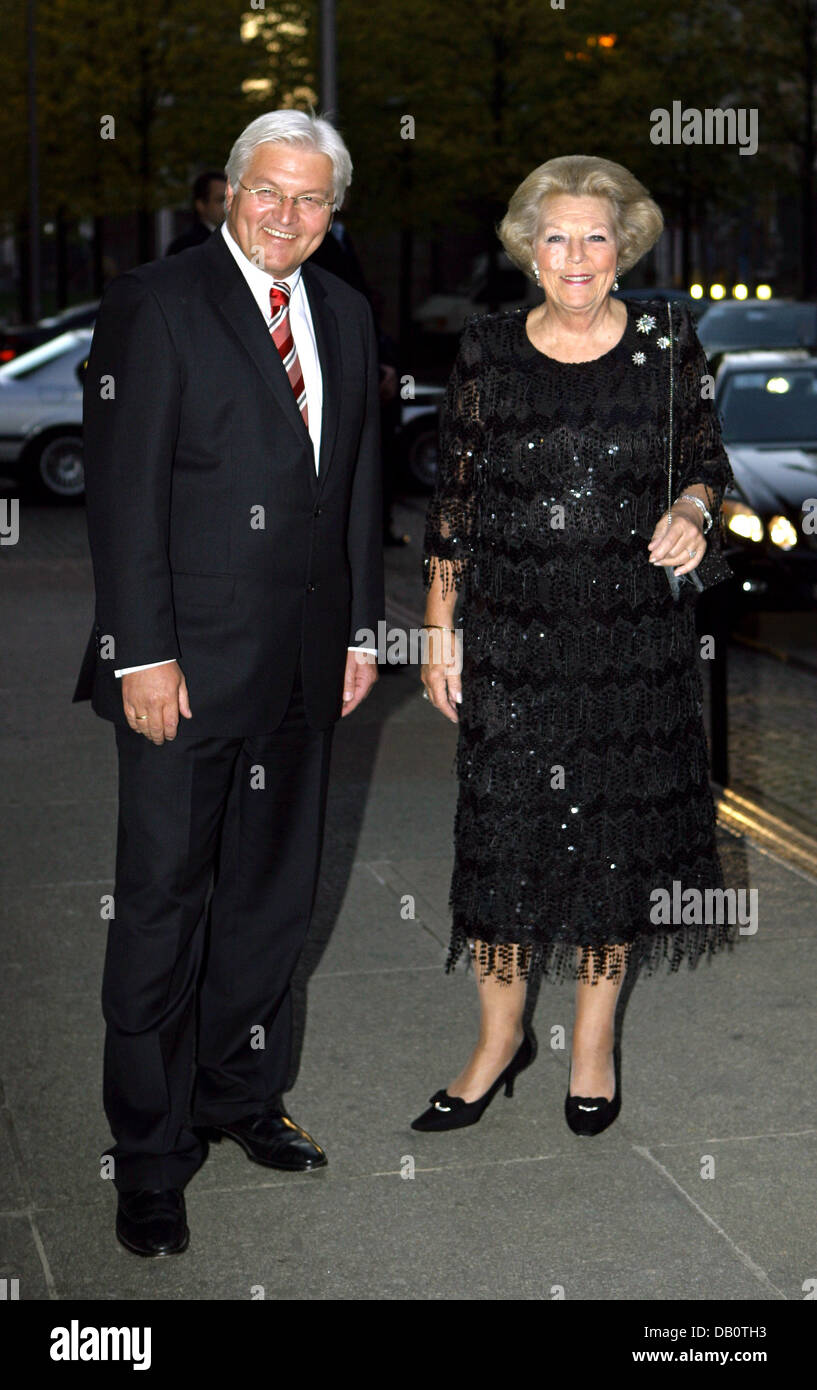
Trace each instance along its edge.
{"label": "black car with lit headlights at right edge beside the woman", "polygon": [[743,600],[817,603],[817,359],[725,353],[716,409],[735,475],[724,498],[727,557]]}

